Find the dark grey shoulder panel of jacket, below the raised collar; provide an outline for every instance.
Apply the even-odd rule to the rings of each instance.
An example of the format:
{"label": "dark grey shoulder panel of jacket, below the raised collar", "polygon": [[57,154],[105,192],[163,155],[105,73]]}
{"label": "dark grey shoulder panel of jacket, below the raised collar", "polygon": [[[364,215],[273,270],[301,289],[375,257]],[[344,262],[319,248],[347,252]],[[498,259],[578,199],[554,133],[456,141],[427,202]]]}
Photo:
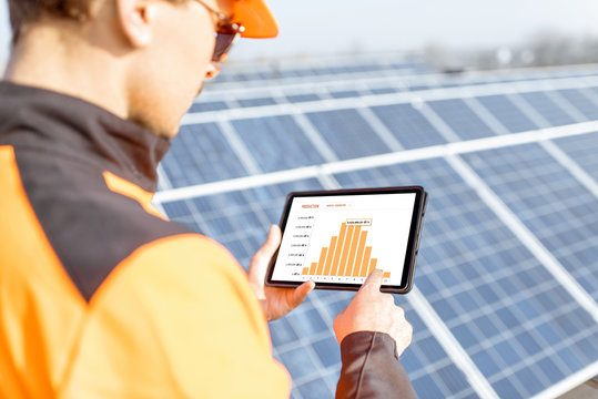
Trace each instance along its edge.
{"label": "dark grey shoulder panel of jacket, below the raised collar", "polygon": [[17,149],[16,156],[38,219],[88,301],[114,267],[136,248],[189,233],[148,214],[136,201],[108,190],[102,171],[81,163],[79,156],[57,156],[52,151],[27,147]]}

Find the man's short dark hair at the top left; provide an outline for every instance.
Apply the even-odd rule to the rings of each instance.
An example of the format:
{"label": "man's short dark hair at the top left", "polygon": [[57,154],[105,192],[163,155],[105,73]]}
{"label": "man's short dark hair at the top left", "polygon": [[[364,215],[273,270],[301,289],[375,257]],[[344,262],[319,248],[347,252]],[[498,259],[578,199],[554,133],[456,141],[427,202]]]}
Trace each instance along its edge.
{"label": "man's short dark hair at the top left", "polygon": [[83,21],[89,17],[94,0],[8,0],[12,42],[16,43],[23,29],[42,17]]}

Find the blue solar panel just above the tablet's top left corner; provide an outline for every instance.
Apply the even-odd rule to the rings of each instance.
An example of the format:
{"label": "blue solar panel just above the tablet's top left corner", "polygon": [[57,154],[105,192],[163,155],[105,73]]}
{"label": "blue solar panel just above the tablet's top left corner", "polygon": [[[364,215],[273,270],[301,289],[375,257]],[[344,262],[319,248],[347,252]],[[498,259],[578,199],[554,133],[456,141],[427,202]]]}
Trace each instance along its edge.
{"label": "blue solar panel just above the tablet's top left corner", "polygon": [[292,116],[236,120],[232,124],[264,172],[314,165],[324,161]]}

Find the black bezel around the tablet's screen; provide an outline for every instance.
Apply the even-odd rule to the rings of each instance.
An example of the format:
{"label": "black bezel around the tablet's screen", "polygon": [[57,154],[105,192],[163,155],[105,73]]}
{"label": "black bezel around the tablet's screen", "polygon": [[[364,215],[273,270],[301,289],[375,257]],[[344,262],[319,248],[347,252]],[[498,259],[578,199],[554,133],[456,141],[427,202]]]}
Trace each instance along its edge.
{"label": "black bezel around the tablet's screen", "polygon": [[[402,186],[402,187],[376,187],[376,188],[349,188],[349,190],[334,190],[334,191],[305,191],[293,192],[286,196],[283,214],[281,216],[281,231],[286,227],[288,214],[293,200],[296,197],[310,197],[310,196],[339,196],[339,195],[376,195],[376,194],[415,194],[415,202],[412,214],[412,222],[409,226],[409,236],[407,242],[407,250],[405,254],[405,264],[403,267],[403,276],[401,278],[401,285],[382,285],[381,290],[384,293],[406,294],[413,287],[413,278],[415,274],[415,263],[417,258],[417,252],[419,249],[419,237],[422,234],[423,217],[425,214],[425,207],[427,203],[427,193],[422,186]],[[292,280],[273,280],[272,275],[274,273],[274,265],[278,250],[274,254],[270,260],[265,285],[270,287],[298,287],[303,282]],[[357,290],[362,284],[344,284],[344,283],[320,283],[316,282],[316,289],[337,289],[337,290]]]}

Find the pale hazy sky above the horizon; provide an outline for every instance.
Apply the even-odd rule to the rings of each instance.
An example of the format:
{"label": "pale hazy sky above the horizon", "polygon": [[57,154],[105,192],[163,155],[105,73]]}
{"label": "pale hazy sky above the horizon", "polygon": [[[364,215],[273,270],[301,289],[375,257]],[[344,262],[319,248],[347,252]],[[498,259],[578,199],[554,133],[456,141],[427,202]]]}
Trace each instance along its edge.
{"label": "pale hazy sky above the horizon", "polygon": [[[543,31],[598,37],[597,0],[268,0],[281,33],[243,40],[231,60],[518,44]],[[0,61],[9,54],[0,0]]]}

